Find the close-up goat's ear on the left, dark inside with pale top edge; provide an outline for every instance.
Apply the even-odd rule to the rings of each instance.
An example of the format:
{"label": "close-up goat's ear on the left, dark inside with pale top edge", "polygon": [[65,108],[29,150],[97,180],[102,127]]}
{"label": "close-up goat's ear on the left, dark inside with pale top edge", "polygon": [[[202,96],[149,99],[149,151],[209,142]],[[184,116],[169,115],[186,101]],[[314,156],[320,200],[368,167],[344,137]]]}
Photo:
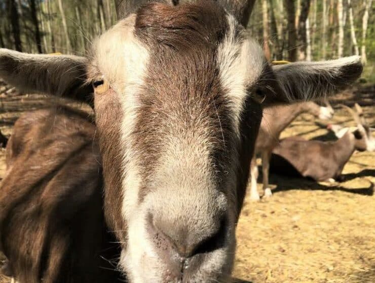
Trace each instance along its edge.
{"label": "close-up goat's ear on the left, dark inside with pale top edge", "polygon": [[85,57],[26,54],[0,49],[0,77],[25,92],[41,92],[92,103]]}

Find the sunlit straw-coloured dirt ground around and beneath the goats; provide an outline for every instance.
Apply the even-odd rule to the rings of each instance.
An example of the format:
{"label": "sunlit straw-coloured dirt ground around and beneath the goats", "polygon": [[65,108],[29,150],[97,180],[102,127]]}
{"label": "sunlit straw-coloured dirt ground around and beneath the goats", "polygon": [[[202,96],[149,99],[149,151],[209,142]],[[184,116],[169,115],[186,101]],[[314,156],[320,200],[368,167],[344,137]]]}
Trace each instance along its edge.
{"label": "sunlit straw-coloured dirt ground around and beneath the goats", "polygon": [[[336,105],[358,102],[374,127],[374,99],[375,85],[341,93],[331,101],[335,115],[330,122],[354,126]],[[22,112],[53,103],[41,95],[0,95],[0,130],[10,135]],[[334,139],[327,123],[301,115],[282,137]],[[4,173],[5,150],[0,149],[0,178]],[[271,199],[245,200],[234,275],[253,283],[375,282],[375,153],[354,153],[343,173],[345,181],[336,184],[271,175]]]}

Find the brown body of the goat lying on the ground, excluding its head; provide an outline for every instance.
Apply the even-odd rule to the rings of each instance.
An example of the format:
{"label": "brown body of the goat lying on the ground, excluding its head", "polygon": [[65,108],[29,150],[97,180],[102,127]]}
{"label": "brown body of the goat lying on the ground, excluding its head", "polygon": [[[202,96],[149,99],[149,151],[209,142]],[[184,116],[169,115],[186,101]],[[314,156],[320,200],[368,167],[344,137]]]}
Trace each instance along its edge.
{"label": "brown body of the goat lying on the ground, excluding its head", "polygon": [[302,176],[316,181],[337,179],[354,152],[350,134],[337,141],[282,139],[273,150],[270,171],[288,176]]}

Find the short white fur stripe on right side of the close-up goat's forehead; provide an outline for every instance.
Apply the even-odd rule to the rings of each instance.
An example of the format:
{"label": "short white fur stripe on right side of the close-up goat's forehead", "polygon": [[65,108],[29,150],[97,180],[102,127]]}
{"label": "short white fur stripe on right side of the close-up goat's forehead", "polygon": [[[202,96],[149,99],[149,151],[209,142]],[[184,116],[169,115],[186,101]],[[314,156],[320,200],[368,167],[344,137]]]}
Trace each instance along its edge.
{"label": "short white fur stripe on right side of the close-up goat's forehead", "polygon": [[218,46],[220,81],[233,101],[234,126],[239,134],[240,114],[244,108],[247,87],[256,82],[266,65],[264,54],[255,41],[236,37],[237,21],[228,17],[229,31]]}

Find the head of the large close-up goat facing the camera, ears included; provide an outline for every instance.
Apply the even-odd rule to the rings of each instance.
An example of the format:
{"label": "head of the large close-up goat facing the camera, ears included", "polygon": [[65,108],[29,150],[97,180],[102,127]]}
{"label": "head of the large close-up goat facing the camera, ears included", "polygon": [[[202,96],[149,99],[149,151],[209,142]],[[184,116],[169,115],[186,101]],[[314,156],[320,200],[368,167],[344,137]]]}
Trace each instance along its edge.
{"label": "head of the large close-up goat facing the camera, ears included", "polygon": [[146,4],[90,58],[0,50],[0,76],[23,88],[86,101],[92,83],[105,217],[130,282],[230,280],[262,104],[331,95],[362,72],[359,57],[270,66],[237,3]]}

